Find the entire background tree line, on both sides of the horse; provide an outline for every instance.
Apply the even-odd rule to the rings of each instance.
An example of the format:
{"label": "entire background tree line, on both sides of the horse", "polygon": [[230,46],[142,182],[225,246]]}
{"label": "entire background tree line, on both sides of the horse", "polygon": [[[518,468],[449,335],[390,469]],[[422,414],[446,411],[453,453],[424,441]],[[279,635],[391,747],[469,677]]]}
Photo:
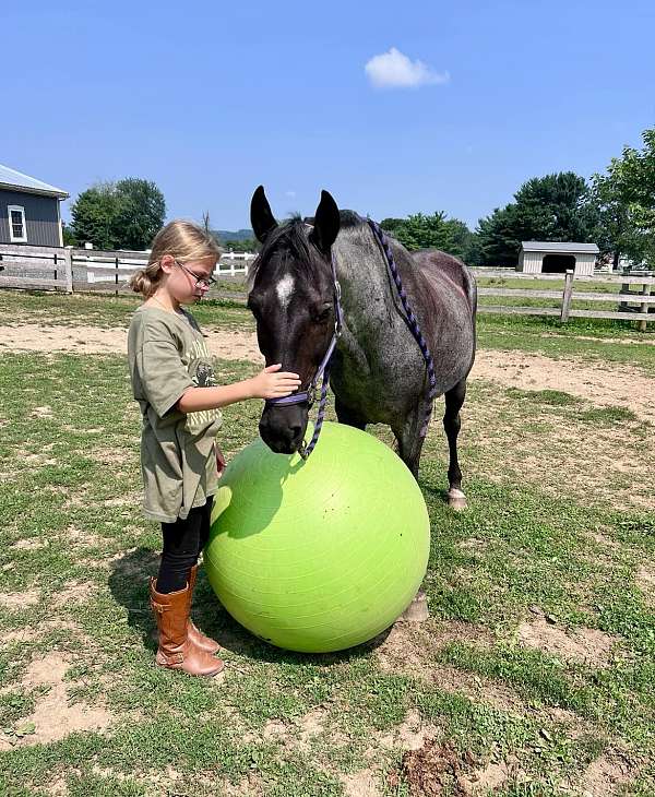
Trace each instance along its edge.
{"label": "entire background tree line, on both sides of the horse", "polygon": [[[641,148],[626,146],[590,181],[573,171],[533,177],[474,230],[444,211],[384,218],[381,226],[407,249],[441,249],[469,265],[513,266],[521,241],[544,240],[594,242],[615,267],[620,258],[655,267],[655,128],[642,140]],[[166,202],[154,182],[126,178],[83,191],[71,217],[67,245],[143,250],[164,225]],[[221,240],[206,213],[202,224],[225,248],[258,246],[254,239]]]}

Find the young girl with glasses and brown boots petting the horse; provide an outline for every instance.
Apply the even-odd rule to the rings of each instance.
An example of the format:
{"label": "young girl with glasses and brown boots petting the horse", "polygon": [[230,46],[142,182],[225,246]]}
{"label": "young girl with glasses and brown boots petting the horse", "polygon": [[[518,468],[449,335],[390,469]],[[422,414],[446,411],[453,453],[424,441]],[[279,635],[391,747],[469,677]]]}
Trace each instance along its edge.
{"label": "young girl with glasses and brown boots petting the horse", "polygon": [[[218,407],[248,398],[290,395],[300,384],[281,365],[257,377],[217,385],[204,337],[182,308],[201,299],[213,282],[219,250],[189,222],[171,222],[154,242],[145,269],[130,285],[145,301],[130,324],[128,358],[141,407],[141,469],[146,518],[162,523],[159,573],[151,579],[151,606],[159,633],[156,663],[190,675],[213,676],[219,645],[190,620],[198,557],[207,542],[218,467]],[[218,464],[217,464],[218,463]]]}

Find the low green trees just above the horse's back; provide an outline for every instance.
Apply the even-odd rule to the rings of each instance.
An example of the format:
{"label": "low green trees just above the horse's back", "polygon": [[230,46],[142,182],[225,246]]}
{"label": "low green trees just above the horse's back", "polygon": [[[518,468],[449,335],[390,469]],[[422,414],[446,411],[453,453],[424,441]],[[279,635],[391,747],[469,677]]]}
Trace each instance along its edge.
{"label": "low green trees just above the horse's back", "polygon": [[432,215],[415,213],[407,218],[384,218],[380,225],[410,251],[441,249],[458,258],[465,258],[472,233],[457,218],[446,218],[443,211]]}

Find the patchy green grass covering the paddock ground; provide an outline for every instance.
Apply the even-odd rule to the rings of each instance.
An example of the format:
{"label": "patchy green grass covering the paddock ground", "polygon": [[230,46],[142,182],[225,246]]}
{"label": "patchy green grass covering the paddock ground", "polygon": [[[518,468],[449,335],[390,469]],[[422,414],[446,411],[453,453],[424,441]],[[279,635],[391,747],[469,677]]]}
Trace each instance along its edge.
{"label": "patchy green grass covering the paddock ground", "polygon": [[[122,325],[134,306],[0,294],[5,313],[48,323]],[[251,329],[235,308],[198,314]],[[619,361],[651,369],[640,359],[650,346],[617,342],[630,331],[583,341],[580,330],[533,320],[480,326],[489,347],[502,337],[564,360],[588,348],[575,356],[605,365],[616,349]],[[219,371],[231,380],[252,369],[223,361]],[[474,382],[462,433],[467,512],[443,502],[439,424],[422,460],[431,619],[353,651],[301,656],[241,630],[203,575],[196,617],[224,643],[227,664],[224,679],[205,681],[153,666],[146,576],[159,532],[139,509],[140,419],[124,358],[4,352],[0,391],[0,794],[343,795],[368,770],[380,794],[409,795],[410,717],[465,753],[466,774],[515,761],[498,792],[508,797],[580,794],[590,764],[617,757],[624,794],[655,790],[654,597],[639,580],[644,568],[655,572],[652,485],[644,476],[621,491],[614,439],[619,431],[622,454],[647,467],[652,435],[631,411]],[[259,413],[254,402],[226,409],[228,455],[257,435]],[[596,465],[579,474],[571,462]],[[606,635],[606,661],[522,644],[520,629],[544,617],[571,639]],[[43,656],[64,659],[69,704],[104,706],[108,728],[28,744],[55,689],[26,682]],[[35,733],[19,736],[32,717]]]}

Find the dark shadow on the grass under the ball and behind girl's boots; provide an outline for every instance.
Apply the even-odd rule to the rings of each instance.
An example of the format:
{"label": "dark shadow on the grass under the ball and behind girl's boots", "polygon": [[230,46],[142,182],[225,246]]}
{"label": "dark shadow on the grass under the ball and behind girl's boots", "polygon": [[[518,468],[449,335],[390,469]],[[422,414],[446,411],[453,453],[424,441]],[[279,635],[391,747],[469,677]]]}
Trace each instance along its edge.
{"label": "dark shadow on the grass under the ball and behind girl's boots", "polygon": [[[150,548],[136,548],[111,563],[109,588],[117,603],[128,609],[128,623],[136,629],[144,647],[155,651],[155,621],[148,605],[148,579],[159,568],[159,556]],[[381,645],[391,628],[357,647],[336,653],[293,653],[274,647],[253,637],[223,608],[201,568],[193,599],[193,619],[204,633],[235,656],[269,664],[297,664],[298,666],[332,666],[368,656]],[[221,655],[221,654],[219,654]]]}

